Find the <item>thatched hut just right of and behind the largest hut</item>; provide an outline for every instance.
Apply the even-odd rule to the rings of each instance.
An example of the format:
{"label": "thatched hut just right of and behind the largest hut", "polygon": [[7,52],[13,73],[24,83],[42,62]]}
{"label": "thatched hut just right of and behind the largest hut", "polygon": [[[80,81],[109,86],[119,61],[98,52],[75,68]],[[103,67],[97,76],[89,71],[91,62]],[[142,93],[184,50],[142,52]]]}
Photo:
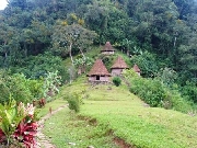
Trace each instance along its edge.
{"label": "thatched hut just right of and behind the largest hut", "polygon": [[111,67],[112,69],[112,76],[119,76],[124,69],[128,69],[129,67],[125,62],[125,60],[118,56],[114,65]]}

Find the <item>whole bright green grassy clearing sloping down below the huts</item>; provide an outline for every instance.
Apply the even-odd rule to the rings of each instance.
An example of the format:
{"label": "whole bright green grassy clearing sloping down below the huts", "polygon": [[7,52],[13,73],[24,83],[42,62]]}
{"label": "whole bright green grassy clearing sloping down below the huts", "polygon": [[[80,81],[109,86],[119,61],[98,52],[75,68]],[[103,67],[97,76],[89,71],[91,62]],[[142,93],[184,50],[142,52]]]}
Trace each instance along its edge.
{"label": "whole bright green grassy clearing sloping down below the huts", "polygon": [[[196,116],[149,107],[125,86],[93,87],[89,86],[84,78],[65,87],[61,98],[67,93],[81,91],[84,91],[85,98],[78,116],[67,109],[46,123],[45,134],[51,137],[57,147],[69,147],[67,144],[73,141],[78,148],[89,145],[115,148],[113,137],[119,137],[138,148],[197,147]],[[85,121],[85,117],[89,119]],[[90,121],[96,121],[96,126],[89,126]],[[50,132],[53,128],[56,130]],[[111,135],[107,135],[107,132],[111,132]],[[106,138],[102,139],[105,136]]]}

